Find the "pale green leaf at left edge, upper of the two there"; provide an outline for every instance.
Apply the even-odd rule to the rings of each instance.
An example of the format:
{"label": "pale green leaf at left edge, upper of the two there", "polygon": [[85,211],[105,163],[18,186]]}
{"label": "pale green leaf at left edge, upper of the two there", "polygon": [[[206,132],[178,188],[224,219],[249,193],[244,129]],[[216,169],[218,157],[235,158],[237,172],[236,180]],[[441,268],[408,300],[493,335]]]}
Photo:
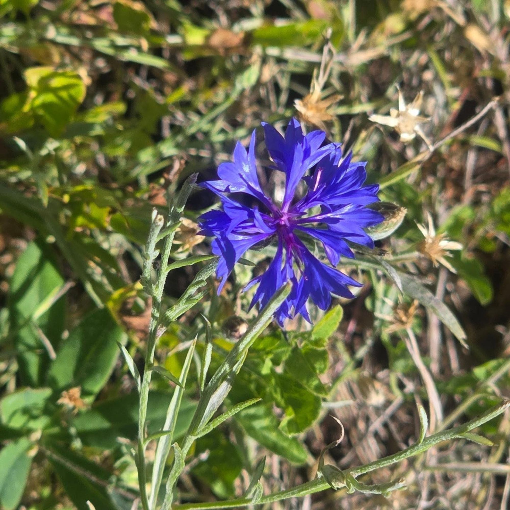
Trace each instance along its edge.
{"label": "pale green leaf at left edge, upper of the two there", "polygon": [[10,428],[39,430],[49,423],[49,416],[41,416],[53,393],[51,388],[23,388],[0,401],[2,423]]}

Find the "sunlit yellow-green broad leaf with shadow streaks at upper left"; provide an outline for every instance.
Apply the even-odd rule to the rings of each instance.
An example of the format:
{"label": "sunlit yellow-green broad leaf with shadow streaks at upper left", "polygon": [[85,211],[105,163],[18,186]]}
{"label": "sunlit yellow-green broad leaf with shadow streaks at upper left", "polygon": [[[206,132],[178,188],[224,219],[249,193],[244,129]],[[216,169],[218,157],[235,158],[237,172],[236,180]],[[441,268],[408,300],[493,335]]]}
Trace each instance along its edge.
{"label": "sunlit yellow-green broad leaf with shadow streaks at upper left", "polygon": [[25,109],[51,136],[59,136],[85,97],[85,83],[77,72],[53,67],[29,67],[24,74],[30,88]]}

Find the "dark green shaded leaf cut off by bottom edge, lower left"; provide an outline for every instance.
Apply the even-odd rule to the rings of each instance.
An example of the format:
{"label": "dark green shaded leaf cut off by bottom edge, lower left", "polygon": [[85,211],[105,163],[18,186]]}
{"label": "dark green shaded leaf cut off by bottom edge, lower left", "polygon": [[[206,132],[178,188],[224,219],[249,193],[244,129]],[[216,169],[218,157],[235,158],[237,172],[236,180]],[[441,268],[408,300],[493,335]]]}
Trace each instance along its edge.
{"label": "dark green shaded leaf cut off by bottom edge, lower left", "polygon": [[107,490],[111,473],[88,458],[57,444],[45,446],[44,452],[78,510],[90,510],[87,500],[96,509],[119,510]]}

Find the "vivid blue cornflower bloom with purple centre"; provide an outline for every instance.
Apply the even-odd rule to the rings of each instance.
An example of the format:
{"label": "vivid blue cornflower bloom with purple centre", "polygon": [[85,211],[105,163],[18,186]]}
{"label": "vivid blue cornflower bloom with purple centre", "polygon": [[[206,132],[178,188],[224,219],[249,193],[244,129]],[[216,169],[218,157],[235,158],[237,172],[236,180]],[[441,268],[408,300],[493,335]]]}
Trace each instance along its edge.
{"label": "vivid blue cornflower bloom with purple centre", "polygon": [[[378,185],[363,186],[366,162],[354,163],[351,154],[342,159],[340,144],[323,145],[326,134],[313,131],[304,135],[299,122],[291,119],[285,138],[273,126],[263,122],[266,147],[277,170],[285,172],[285,194],[281,205],[275,204],[262,190],[257,175],[253,131],[248,151],[237,143],[234,162],[218,167],[218,181],[202,186],[219,195],[222,210],[203,214],[199,221],[201,234],[213,236],[213,253],[219,256],[217,276],[221,278],[218,293],[243,254],[262,241],[274,239],[276,254],[267,270],[253,278],[246,289],[259,284],[250,308],[260,307],[271,299],[286,282],[292,290],[279,308],[276,318],[301,314],[310,321],[306,303],[310,298],[326,310],[331,294],[352,298],[348,286],[361,287],[351,277],[335,269],[340,257],[353,258],[348,242],[373,248],[372,238],[364,228],[382,221],[382,216],[366,206],[378,201]],[[305,175],[312,169],[310,175]],[[308,191],[296,198],[298,184],[304,181]],[[246,193],[259,202],[247,207],[229,193]],[[320,241],[331,266],[319,261],[305,244]]]}

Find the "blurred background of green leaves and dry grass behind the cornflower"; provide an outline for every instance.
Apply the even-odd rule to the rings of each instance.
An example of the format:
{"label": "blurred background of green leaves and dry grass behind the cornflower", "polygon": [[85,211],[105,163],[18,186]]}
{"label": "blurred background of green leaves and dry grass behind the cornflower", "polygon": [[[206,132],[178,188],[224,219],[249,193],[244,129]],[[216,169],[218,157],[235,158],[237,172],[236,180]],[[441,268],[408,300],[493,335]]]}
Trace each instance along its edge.
{"label": "blurred background of green leaves and dry grass behind the cornflower", "polygon": [[[242,494],[263,453],[268,491],[313,476],[338,436],[324,419],[332,412],[346,429],[333,452],[341,467],[405,447],[419,431],[415,397],[430,397],[414,347],[440,396],[436,430],[508,396],[509,21],[501,0],[0,0],[0,506],[131,507],[137,395],[115,341],[140,362],[151,211],[165,211],[189,174],[214,177],[261,121],[282,127],[299,114],[369,162],[381,198],[407,209],[380,250],[419,249],[416,223],[428,214],[462,243],[448,258],[456,274],[423,250],[399,267],[431,286],[429,304],[444,300],[469,349],[437,306],[402,298],[372,268],[359,299],[313,329],[290,324],[287,336],[272,328],[259,339],[229,398],[263,400],[197,441],[182,499]],[[408,105],[423,94],[421,132],[402,108],[395,129],[369,119],[397,108],[398,86]],[[265,177],[277,193],[281,176]],[[205,191],[191,196],[174,259],[209,253],[195,220],[213,203]],[[241,266],[219,297],[211,284],[160,339],[171,373],[203,332],[199,312],[213,323],[213,364],[242,334],[240,289],[265,254],[251,260],[259,265]],[[195,268],[172,273],[168,304]],[[176,439],[194,410],[189,379]],[[161,428],[171,391],[155,380],[149,431]],[[420,469],[397,468],[409,489],[389,499],[339,491],[277,507],[507,508],[509,430],[505,416],[485,430],[496,447],[461,443]]]}

